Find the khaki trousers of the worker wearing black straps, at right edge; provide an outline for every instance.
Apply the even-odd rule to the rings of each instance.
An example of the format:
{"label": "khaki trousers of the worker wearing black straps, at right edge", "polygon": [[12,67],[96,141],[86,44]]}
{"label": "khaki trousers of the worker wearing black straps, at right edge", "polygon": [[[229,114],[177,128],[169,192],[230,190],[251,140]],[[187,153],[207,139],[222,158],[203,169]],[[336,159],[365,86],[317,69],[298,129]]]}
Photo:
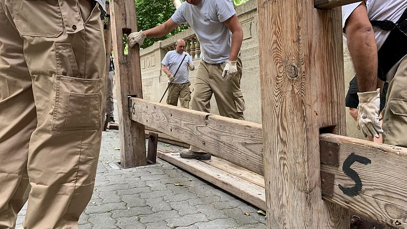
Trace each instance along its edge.
{"label": "khaki trousers of the worker wearing black straps, at right edge", "polygon": [[389,84],[383,115],[383,143],[407,147],[407,55]]}

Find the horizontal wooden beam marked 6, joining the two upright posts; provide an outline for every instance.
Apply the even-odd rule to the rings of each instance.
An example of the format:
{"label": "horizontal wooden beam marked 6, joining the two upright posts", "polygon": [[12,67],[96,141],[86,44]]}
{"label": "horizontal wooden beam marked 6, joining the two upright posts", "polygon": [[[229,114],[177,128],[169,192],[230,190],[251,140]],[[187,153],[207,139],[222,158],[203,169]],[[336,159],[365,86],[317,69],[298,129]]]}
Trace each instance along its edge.
{"label": "horizontal wooden beam marked 6, joining the two upright posts", "polygon": [[261,125],[131,98],[131,119],[263,174]]}

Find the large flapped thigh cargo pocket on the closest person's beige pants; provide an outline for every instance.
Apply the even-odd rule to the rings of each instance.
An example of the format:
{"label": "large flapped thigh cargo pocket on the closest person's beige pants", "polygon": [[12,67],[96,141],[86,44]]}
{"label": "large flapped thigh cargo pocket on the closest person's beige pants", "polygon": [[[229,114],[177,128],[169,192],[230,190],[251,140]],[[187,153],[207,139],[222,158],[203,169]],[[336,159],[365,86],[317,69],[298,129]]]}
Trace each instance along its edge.
{"label": "large flapped thigh cargo pocket on the closest person's beige pants", "polygon": [[96,130],[101,120],[101,79],[54,76],[51,130]]}

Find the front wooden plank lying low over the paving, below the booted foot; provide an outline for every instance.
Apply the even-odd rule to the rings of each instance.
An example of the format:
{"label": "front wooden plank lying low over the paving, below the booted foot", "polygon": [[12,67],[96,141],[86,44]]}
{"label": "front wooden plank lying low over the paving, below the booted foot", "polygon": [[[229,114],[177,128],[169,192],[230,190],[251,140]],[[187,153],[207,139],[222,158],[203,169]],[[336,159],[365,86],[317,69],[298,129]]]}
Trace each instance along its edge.
{"label": "front wooden plank lying low over the paving, below the booted foot", "polygon": [[179,153],[163,154],[157,152],[157,156],[180,168],[189,171],[219,188],[244,199],[248,203],[265,210],[266,199],[263,187],[250,183],[209,164],[195,159],[183,159]]}

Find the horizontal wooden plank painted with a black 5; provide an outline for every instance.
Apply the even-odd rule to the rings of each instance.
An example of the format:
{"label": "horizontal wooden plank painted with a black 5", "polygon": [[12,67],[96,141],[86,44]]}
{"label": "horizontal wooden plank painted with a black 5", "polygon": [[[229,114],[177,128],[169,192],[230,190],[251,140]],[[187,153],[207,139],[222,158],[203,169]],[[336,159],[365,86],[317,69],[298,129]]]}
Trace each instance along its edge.
{"label": "horizontal wooden plank painted with a black 5", "polygon": [[324,199],[395,228],[407,228],[407,149],[334,134],[322,134],[321,140],[338,144],[340,165],[321,165],[321,170],[335,175],[333,196]]}

